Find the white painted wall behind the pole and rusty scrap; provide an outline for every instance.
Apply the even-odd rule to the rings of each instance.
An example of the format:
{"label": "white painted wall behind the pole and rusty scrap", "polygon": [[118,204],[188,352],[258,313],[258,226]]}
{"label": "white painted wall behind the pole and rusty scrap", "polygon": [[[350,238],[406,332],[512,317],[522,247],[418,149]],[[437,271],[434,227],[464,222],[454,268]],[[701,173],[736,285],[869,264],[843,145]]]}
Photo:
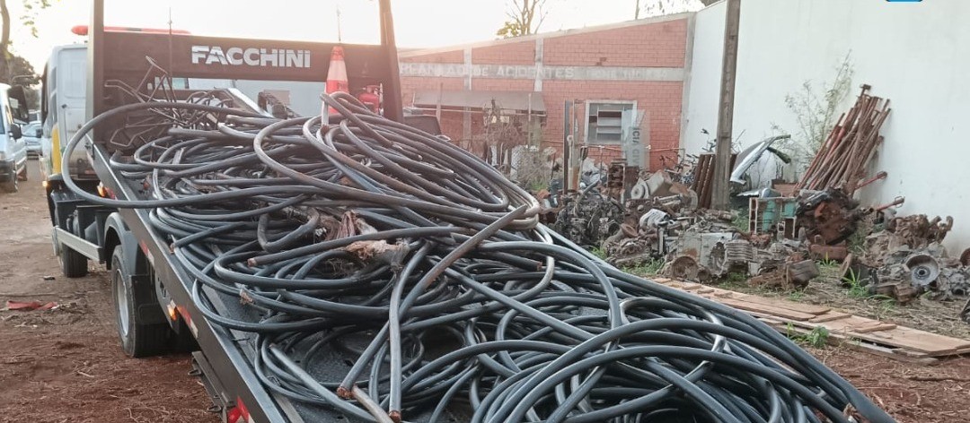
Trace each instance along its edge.
{"label": "white painted wall behind the pole and rusty scrap", "polygon": [[[699,128],[717,122],[725,2],[697,13],[688,124],[689,153]],[[797,131],[785,96],[806,81],[830,81],[851,51],[857,86],[891,100],[885,144],[872,173],[889,178],[866,188],[863,202],[905,196],[901,214],[954,216],[947,247],[970,246],[970,2],[923,0],[742,0],[733,131],[744,145],[774,134],[777,124]]]}

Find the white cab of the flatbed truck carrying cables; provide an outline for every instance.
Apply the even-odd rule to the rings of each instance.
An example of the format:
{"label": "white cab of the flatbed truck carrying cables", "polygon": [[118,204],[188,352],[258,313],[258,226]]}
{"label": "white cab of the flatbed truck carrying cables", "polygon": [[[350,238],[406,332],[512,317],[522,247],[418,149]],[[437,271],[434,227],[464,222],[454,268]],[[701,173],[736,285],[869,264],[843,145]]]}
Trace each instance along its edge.
{"label": "white cab of the flatbed truck carrying cables", "polygon": [[[61,152],[84,124],[87,106],[87,45],[58,45],[50,52],[44,68],[41,92],[40,166],[44,181],[60,174]],[[71,157],[71,173],[76,177],[94,177],[83,148]]]}

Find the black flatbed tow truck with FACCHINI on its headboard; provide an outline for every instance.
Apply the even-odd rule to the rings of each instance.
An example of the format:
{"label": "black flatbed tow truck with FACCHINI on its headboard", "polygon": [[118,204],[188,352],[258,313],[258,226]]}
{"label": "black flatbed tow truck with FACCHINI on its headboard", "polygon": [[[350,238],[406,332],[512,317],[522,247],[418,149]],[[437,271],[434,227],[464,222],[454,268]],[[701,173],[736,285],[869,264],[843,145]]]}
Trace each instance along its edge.
{"label": "black flatbed tow truck with FACCHINI on its headboard", "polygon": [[[380,45],[341,44],[347,74],[351,89],[379,84],[384,92],[384,115],[404,122],[389,0],[379,1],[379,11]],[[319,82],[327,76],[328,59],[336,45],[201,37],[183,31],[106,30],[104,12],[104,0],[95,0],[87,31],[87,120],[131,102],[119,98],[109,85],[157,87],[159,80],[151,80],[152,65],[146,56],[167,65],[173,78]],[[274,55],[270,57],[272,61],[256,60],[266,53]],[[64,107],[57,102],[50,104],[56,96],[55,87],[49,85],[44,87],[45,122]],[[174,95],[178,99],[188,93],[175,90]],[[221,90],[214,95],[236,107],[264,112],[237,91]],[[110,125],[106,126],[97,128],[86,140],[86,157],[66,159],[72,161],[73,179],[89,193],[145,199],[145,187],[126,180],[109,166],[114,153],[109,142],[113,131]],[[57,139],[58,135],[53,135],[49,155],[56,157],[70,134],[60,136]],[[54,163],[59,160],[56,157]],[[76,161],[86,163],[75,166]],[[348,420],[323,408],[291,402],[260,382],[252,367],[254,336],[210,325],[203,317],[192,300],[190,276],[172,256],[168,242],[149,225],[147,210],[114,209],[85,202],[65,187],[62,176],[56,173],[59,166],[52,168],[54,171],[46,175],[44,185],[49,197],[54,249],[62,270],[65,276],[80,277],[87,273],[88,261],[93,260],[104,263],[111,271],[118,335],[128,355],[194,350],[192,374],[202,379],[213,404],[211,410],[219,413],[224,422]],[[238,299],[210,290],[204,290],[203,295],[222,316],[243,317],[251,313],[243,310]]]}

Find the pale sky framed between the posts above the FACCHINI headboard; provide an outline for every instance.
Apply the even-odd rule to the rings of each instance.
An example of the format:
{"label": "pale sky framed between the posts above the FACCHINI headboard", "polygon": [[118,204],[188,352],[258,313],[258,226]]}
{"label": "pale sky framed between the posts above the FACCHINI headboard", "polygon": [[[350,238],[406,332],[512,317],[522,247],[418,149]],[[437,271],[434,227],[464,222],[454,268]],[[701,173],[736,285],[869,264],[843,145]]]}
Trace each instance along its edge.
{"label": "pale sky framed between the posts above the FACCHINI headboard", "polygon": [[[280,3],[285,3],[282,7]],[[339,11],[339,19],[338,19]],[[171,15],[170,15],[171,14]],[[170,0],[105,2],[105,26],[192,35],[317,43],[380,44],[378,4],[364,0]],[[339,27],[339,30],[338,30]]]}

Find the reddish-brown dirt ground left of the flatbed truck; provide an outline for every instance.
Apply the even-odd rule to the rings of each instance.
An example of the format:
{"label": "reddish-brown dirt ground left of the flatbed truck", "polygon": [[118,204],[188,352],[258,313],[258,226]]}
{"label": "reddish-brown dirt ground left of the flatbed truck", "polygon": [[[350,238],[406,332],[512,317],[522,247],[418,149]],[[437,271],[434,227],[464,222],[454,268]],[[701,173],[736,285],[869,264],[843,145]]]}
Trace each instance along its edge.
{"label": "reddish-brown dirt ground left of the flatbed truck", "polygon": [[[215,422],[187,354],[126,357],[114,329],[108,273],[67,279],[50,247],[37,163],[20,192],[0,194],[0,422]],[[52,280],[45,278],[53,277]]]}

